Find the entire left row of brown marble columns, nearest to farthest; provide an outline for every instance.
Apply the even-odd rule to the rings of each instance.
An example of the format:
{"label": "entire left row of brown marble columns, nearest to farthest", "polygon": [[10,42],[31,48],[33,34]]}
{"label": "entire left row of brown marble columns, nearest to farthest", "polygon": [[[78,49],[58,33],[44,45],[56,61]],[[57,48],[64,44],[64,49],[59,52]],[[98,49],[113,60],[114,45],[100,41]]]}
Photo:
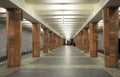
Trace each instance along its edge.
{"label": "entire left row of brown marble columns, nearest to farthest", "polygon": [[[18,9],[7,9],[7,53],[8,67],[18,67],[21,64],[21,43],[22,43],[22,11]],[[40,23],[32,23],[32,55],[40,57]],[[29,39],[28,39],[29,40]],[[43,32],[43,52],[48,53],[62,45],[61,37],[47,28]]]}

